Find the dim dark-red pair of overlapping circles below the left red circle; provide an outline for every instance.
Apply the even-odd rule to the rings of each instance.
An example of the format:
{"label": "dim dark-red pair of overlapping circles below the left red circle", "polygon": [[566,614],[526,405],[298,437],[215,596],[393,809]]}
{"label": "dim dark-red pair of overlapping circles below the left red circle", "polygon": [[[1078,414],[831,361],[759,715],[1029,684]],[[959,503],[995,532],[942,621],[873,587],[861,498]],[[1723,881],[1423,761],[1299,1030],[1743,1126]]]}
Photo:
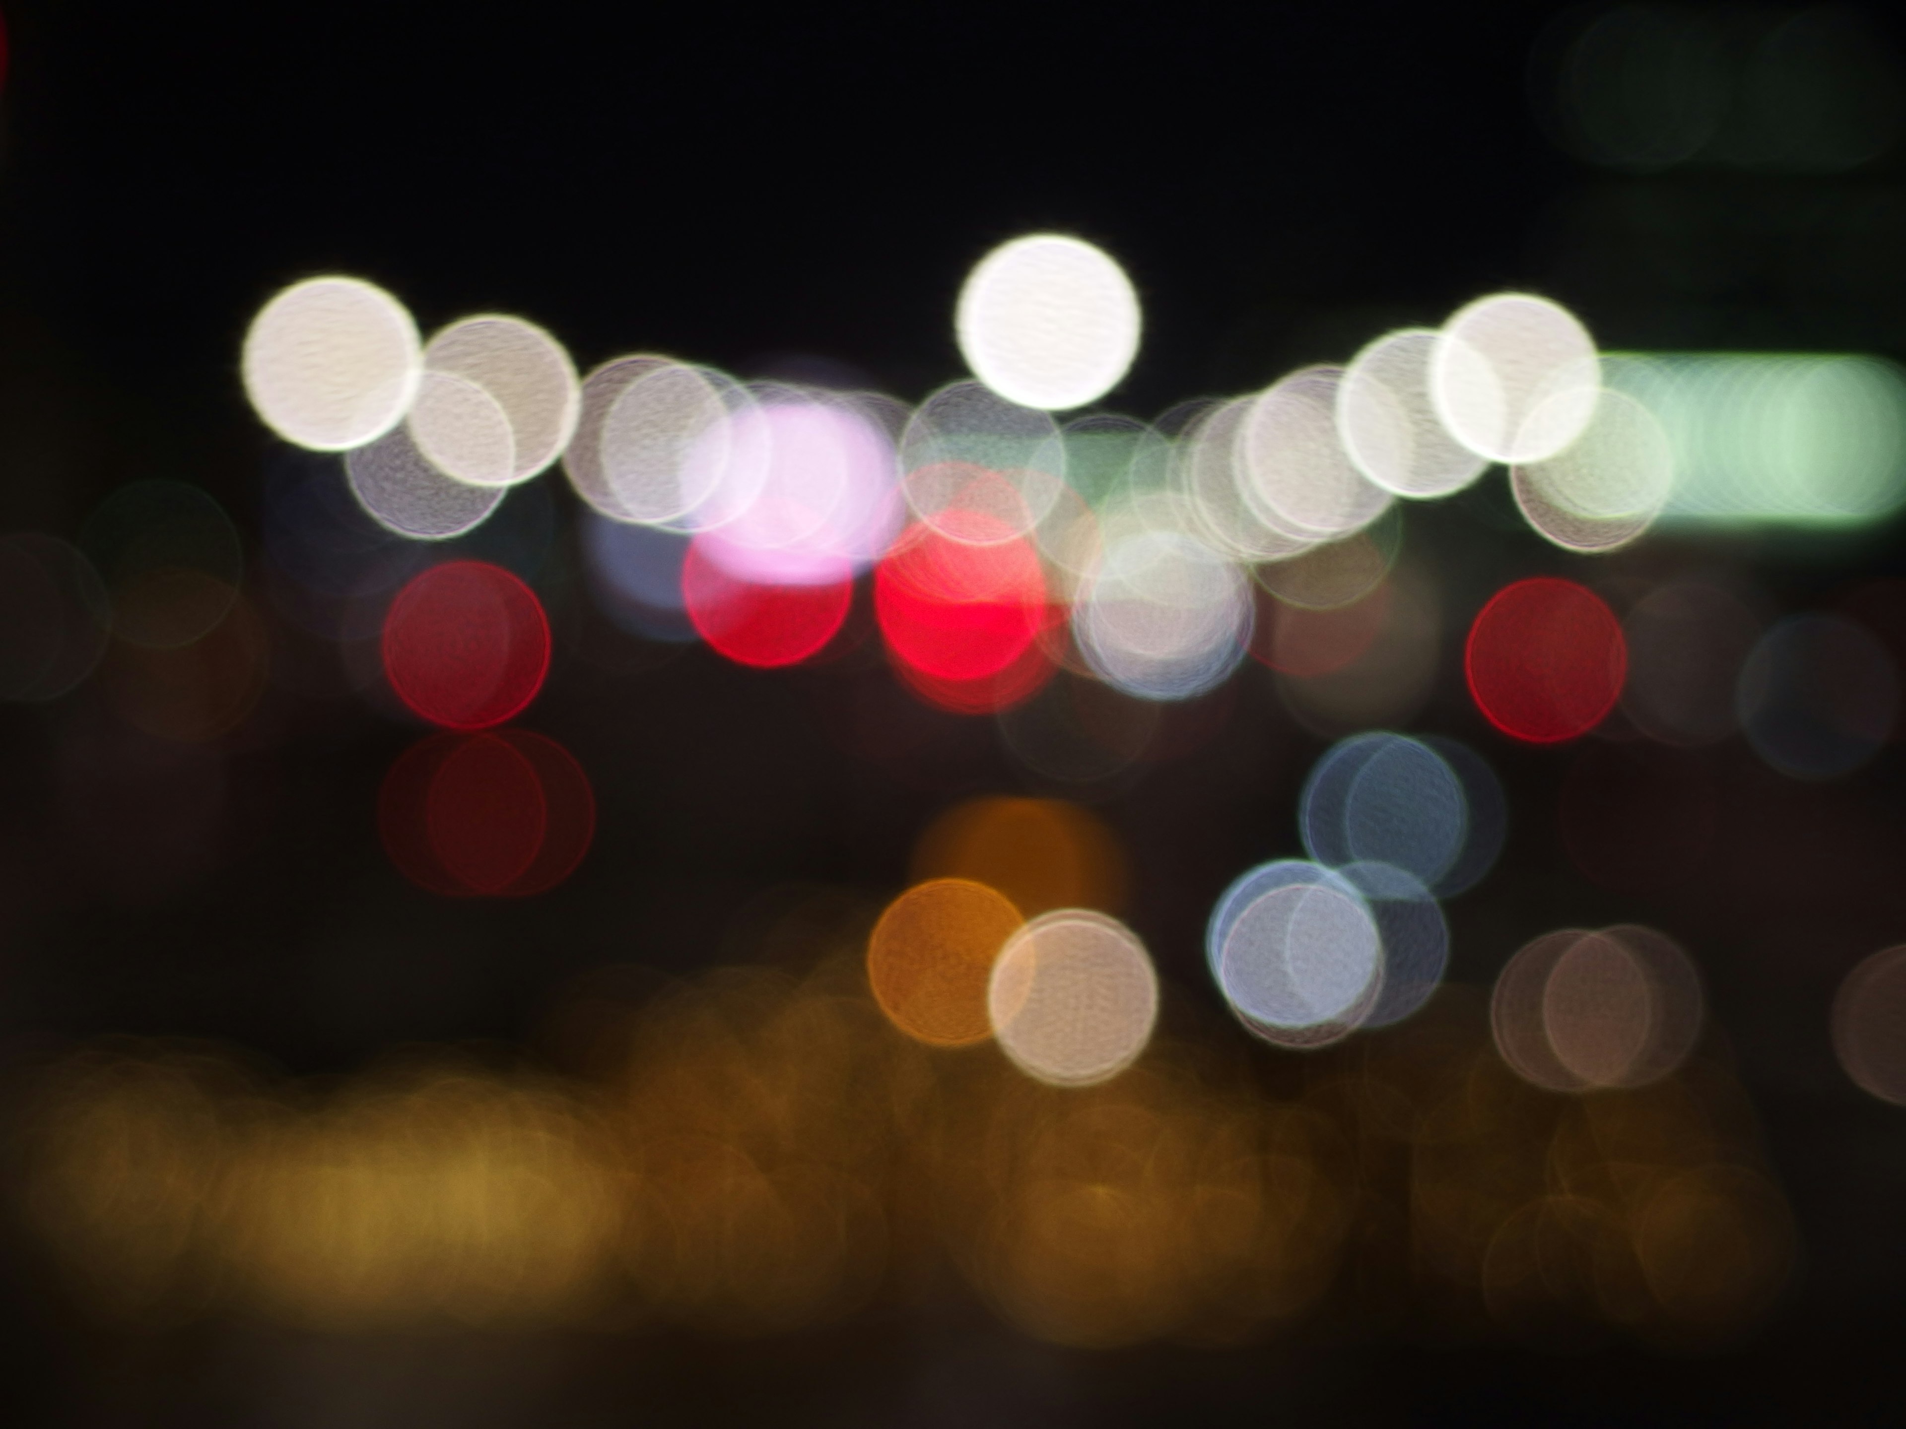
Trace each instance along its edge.
{"label": "dim dark-red pair of overlapping circles below the left red circle", "polygon": [[539,734],[436,734],[391,766],[377,831],[419,888],[524,897],[560,884],[589,852],[595,791],[581,764]]}

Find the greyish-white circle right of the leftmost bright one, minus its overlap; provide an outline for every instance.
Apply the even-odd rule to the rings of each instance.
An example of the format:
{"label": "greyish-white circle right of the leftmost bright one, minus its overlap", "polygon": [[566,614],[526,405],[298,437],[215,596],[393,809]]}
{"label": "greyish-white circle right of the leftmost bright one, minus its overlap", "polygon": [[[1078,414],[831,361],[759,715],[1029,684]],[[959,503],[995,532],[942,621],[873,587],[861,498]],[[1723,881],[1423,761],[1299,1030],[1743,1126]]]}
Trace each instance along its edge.
{"label": "greyish-white circle right of the leftmost bright one, minus its overlap", "polygon": [[454,322],[431,337],[423,366],[480,387],[509,421],[515,450],[509,476],[497,482],[446,467],[457,480],[478,486],[526,482],[562,455],[576,431],[581,412],[576,366],[562,343],[532,322],[496,314]]}

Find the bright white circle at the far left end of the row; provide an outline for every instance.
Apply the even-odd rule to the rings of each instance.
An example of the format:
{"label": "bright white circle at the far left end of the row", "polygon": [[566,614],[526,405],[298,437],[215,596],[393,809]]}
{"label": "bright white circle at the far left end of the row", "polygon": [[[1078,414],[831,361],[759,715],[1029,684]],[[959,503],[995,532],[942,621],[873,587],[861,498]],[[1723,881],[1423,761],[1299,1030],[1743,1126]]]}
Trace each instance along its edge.
{"label": "bright white circle at the far left end of the row", "polygon": [[278,436],[347,452],[402,421],[423,354],[391,293],[360,278],[309,278],[259,309],[240,370],[252,410]]}

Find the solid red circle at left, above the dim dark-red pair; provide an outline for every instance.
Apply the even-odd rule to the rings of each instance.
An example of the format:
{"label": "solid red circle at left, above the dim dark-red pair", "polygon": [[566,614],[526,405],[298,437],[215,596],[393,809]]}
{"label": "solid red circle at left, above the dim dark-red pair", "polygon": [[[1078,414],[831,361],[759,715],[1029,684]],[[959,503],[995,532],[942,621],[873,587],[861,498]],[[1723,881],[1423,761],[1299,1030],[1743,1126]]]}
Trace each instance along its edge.
{"label": "solid red circle at left, above the dim dark-red pair", "polygon": [[412,713],[484,730],[522,713],[549,674],[549,619],[536,593],[486,560],[416,575],[383,617],[383,673]]}

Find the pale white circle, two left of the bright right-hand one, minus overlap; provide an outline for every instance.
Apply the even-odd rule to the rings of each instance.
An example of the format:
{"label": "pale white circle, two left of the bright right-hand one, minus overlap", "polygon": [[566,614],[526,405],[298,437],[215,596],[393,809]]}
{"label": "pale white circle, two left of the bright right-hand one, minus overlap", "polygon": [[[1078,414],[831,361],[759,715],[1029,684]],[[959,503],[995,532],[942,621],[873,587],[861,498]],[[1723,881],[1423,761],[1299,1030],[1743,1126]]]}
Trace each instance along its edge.
{"label": "pale white circle, two left of the bright right-hand one, minus overlap", "polygon": [[1357,471],[1336,433],[1340,368],[1304,368],[1260,392],[1237,431],[1241,490],[1252,513],[1311,543],[1361,532],[1389,492]]}

